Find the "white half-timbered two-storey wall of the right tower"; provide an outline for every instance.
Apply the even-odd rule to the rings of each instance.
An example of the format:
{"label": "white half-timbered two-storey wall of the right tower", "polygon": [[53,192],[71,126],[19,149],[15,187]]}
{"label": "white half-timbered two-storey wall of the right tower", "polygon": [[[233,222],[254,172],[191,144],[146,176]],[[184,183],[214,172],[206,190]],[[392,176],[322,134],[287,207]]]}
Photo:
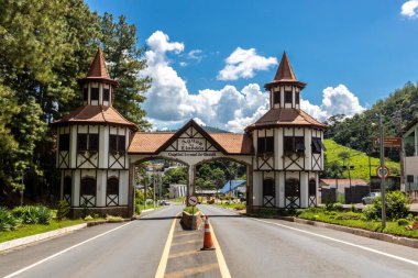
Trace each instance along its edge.
{"label": "white half-timbered two-storey wall of the right tower", "polygon": [[253,205],[286,209],[316,205],[318,173],[323,170],[322,140],[322,131],[312,127],[253,131],[256,149]]}

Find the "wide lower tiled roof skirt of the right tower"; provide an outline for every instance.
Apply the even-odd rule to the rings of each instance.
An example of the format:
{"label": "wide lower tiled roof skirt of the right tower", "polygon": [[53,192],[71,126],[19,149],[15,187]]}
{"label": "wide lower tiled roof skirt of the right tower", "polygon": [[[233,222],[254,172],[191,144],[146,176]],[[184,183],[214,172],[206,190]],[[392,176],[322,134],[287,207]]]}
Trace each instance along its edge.
{"label": "wide lower tiled roof skirt of the right tower", "polygon": [[275,126],[316,126],[327,129],[327,125],[318,122],[300,109],[276,108],[268,110],[258,121],[246,126],[245,131]]}

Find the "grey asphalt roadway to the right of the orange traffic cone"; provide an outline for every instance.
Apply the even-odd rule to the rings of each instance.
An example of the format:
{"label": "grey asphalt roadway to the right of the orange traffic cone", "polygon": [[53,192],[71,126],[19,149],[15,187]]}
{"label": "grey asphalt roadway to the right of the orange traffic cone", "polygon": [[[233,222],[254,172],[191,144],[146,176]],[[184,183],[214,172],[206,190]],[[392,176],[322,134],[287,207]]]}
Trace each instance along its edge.
{"label": "grey asphalt roadway to the right of the orange traffic cone", "polygon": [[418,277],[418,251],[410,247],[286,221],[238,216],[209,205],[200,210],[209,215],[232,277]]}

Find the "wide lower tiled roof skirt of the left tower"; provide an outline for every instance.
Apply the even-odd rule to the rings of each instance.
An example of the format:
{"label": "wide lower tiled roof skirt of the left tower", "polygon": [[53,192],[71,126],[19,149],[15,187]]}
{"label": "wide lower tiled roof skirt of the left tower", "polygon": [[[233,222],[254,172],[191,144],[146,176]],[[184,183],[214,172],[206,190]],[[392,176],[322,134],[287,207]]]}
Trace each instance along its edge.
{"label": "wide lower tiled roof skirt of the left tower", "polygon": [[54,121],[53,124],[72,124],[72,123],[109,123],[128,125],[136,130],[136,125],[124,119],[113,107],[103,105],[85,105],[80,107],[61,120]]}

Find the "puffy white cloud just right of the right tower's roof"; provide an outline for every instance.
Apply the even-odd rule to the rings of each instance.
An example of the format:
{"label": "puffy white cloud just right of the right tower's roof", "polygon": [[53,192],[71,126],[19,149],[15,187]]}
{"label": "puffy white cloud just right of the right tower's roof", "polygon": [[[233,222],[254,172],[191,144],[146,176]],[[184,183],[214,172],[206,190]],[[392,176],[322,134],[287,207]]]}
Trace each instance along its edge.
{"label": "puffy white cloud just right of the right tower's roof", "polygon": [[319,121],[324,121],[336,114],[353,116],[365,110],[360,104],[359,98],[344,85],[323,89],[322,104],[320,107],[311,104],[308,100],[301,100],[300,108]]}

